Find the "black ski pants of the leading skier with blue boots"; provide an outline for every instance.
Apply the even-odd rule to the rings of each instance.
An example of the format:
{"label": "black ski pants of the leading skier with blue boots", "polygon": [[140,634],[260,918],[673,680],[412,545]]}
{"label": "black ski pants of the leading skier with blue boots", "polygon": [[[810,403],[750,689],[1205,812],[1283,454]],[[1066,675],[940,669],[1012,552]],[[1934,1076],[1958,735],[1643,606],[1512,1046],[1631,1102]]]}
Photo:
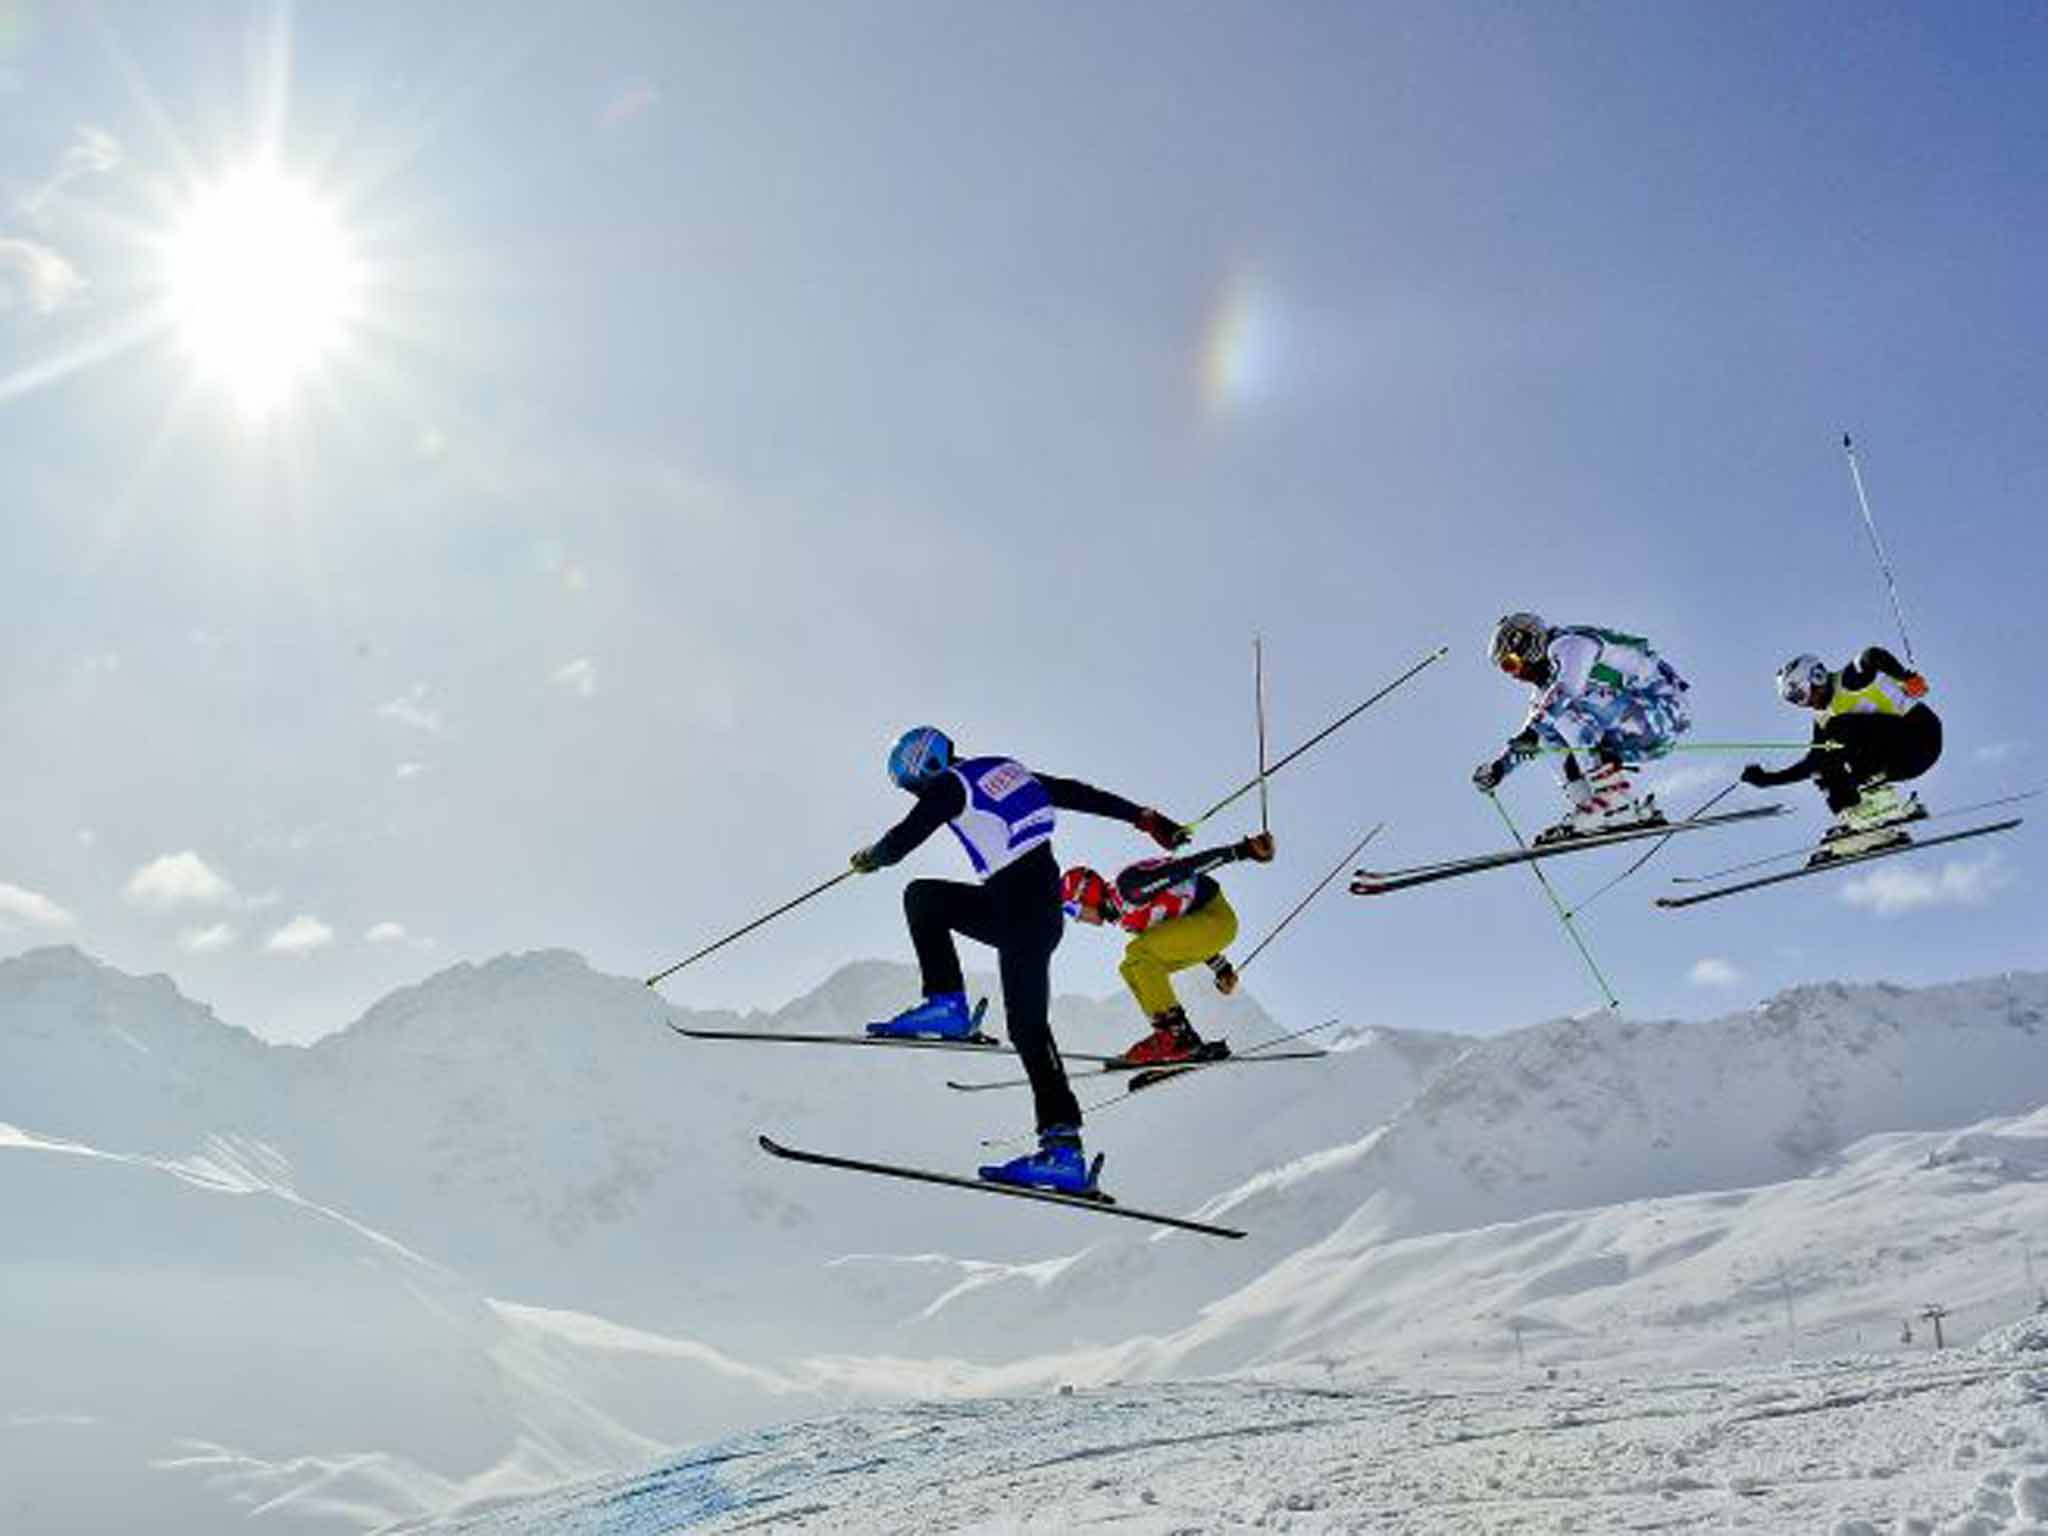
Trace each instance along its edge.
{"label": "black ski pants of the leading skier with blue boots", "polygon": [[981,885],[911,881],[903,887],[909,942],[924,971],[924,995],[967,991],[954,934],[995,950],[1004,981],[1004,1018],[1030,1077],[1038,1128],[1081,1124],[1081,1106],[1067,1083],[1067,1067],[1053,1040],[1053,950],[1067,920],[1059,907],[1059,864],[1044,844],[1032,848]]}

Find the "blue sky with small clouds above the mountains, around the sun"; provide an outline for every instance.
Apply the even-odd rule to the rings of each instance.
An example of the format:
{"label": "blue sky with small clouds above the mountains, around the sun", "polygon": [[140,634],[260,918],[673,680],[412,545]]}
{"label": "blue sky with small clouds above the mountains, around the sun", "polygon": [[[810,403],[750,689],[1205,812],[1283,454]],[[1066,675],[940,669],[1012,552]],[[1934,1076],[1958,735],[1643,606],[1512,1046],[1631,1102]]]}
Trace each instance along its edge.
{"label": "blue sky with small clouds above the mountains, around the sun", "polygon": [[[1249,774],[1255,631],[1276,748],[1450,645],[1276,780],[1255,936],[1370,821],[1497,842],[1501,610],[1651,635],[1704,739],[1802,735],[1776,666],[1894,637],[1845,428],[1927,799],[2040,778],[2038,6],[477,14],[0,4],[0,942],[281,1038],[510,948],[643,975],[899,815],[903,725],[1192,815]],[[252,420],[164,332],[162,242],[264,145],[362,287]],[[1790,846],[1792,799],[1659,862]],[[1896,860],[1905,911],[1657,913],[1653,864],[1585,934],[1640,1014],[2042,967],[2038,848]],[[670,995],[907,958],[899,885]],[[1597,1001],[1522,872],[1333,889],[1260,971],[1303,1022]]]}

